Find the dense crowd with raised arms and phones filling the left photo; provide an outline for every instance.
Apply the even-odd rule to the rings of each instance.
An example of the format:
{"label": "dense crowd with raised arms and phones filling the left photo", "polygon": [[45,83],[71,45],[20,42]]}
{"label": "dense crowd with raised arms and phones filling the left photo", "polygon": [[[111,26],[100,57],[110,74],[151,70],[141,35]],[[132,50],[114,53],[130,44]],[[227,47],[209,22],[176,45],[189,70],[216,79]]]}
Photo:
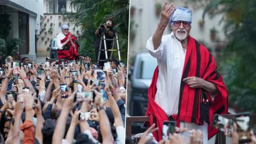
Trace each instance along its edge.
{"label": "dense crowd with raised arms and phones filling the left photo", "polygon": [[119,61],[108,64],[7,57],[0,69],[0,143],[125,143],[127,70]]}

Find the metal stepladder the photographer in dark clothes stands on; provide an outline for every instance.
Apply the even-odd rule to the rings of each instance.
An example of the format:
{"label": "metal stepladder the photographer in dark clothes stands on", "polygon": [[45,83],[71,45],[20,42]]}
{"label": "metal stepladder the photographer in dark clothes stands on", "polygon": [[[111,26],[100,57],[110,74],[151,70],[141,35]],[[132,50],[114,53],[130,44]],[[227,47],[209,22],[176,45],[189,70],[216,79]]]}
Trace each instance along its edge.
{"label": "metal stepladder the photographer in dark clothes stands on", "polygon": [[[104,42],[104,49],[102,49],[102,40]],[[113,44],[112,44],[112,48],[111,49],[106,49],[106,40],[113,40]],[[115,40],[117,42],[117,49],[114,48]],[[109,57],[110,60],[113,57],[113,52],[117,51],[118,57],[119,57],[119,61],[121,61],[120,48],[119,48],[119,41],[118,40],[119,40],[119,37],[118,37],[117,33],[115,33],[114,38],[111,38],[111,39],[106,39],[105,34],[102,33],[102,36],[100,37],[100,47],[99,47],[99,50],[98,50],[98,59],[97,59],[97,63],[98,64],[100,63],[100,61],[106,61],[106,59],[108,59],[108,51],[111,52],[110,57]],[[103,51],[105,52],[105,58],[106,59],[100,59],[100,53],[103,52]]]}

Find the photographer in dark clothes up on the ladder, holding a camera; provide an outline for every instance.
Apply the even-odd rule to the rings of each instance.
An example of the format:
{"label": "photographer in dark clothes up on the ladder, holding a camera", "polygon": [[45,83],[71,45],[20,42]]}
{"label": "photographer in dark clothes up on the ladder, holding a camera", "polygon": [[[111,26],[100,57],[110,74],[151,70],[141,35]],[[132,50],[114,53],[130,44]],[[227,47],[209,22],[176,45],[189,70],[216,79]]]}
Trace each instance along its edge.
{"label": "photographer in dark clothes up on the ladder, holding a camera", "polygon": [[[113,20],[108,19],[104,24],[100,24],[100,26],[95,31],[95,56],[98,59],[98,50],[100,48],[100,38],[102,34],[105,34],[106,39],[113,39],[115,36],[115,31],[113,30],[114,22]],[[106,40],[106,49],[109,50],[111,48],[113,40]],[[104,50],[104,41],[102,40],[101,49]],[[110,52],[108,52],[108,56],[110,56]],[[100,52],[100,60],[106,59],[104,51]],[[103,66],[104,61],[100,61],[100,66]]]}

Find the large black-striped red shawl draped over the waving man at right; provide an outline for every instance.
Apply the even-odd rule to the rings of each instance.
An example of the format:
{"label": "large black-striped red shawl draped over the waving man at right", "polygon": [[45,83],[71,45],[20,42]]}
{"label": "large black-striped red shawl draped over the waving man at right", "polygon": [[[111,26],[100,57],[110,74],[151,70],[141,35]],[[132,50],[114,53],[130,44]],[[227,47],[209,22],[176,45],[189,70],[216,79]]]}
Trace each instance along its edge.
{"label": "large black-striped red shawl draped over the waving man at right", "polygon": [[[212,57],[210,52],[194,38],[189,36],[185,65],[181,78],[178,114],[168,118],[164,110],[154,101],[156,96],[156,81],[158,79],[158,67],[156,67],[152,83],[148,89],[146,116],[150,116],[150,125],[156,123],[156,127],[159,127],[158,131],[153,134],[157,141],[162,139],[162,124],[164,120],[175,120],[177,121],[178,127],[180,121],[194,122],[196,124],[203,124],[203,121],[206,121],[208,123],[208,139],[218,132],[210,124],[213,114],[227,114],[228,92],[226,85],[223,83],[222,76],[216,69],[214,57]],[[193,76],[201,77],[216,85],[219,93],[214,101],[210,98],[210,94],[203,89],[190,88],[184,83],[183,79],[185,77]]]}

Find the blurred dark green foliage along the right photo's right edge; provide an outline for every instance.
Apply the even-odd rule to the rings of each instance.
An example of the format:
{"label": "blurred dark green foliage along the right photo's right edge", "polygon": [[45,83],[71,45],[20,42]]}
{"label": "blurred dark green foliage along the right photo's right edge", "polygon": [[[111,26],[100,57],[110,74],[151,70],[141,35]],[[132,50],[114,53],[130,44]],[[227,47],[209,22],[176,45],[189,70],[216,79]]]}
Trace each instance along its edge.
{"label": "blurred dark green foliage along the right photo's right edge", "polygon": [[256,0],[212,0],[205,14],[223,13],[228,42],[221,69],[230,106],[256,114]]}

